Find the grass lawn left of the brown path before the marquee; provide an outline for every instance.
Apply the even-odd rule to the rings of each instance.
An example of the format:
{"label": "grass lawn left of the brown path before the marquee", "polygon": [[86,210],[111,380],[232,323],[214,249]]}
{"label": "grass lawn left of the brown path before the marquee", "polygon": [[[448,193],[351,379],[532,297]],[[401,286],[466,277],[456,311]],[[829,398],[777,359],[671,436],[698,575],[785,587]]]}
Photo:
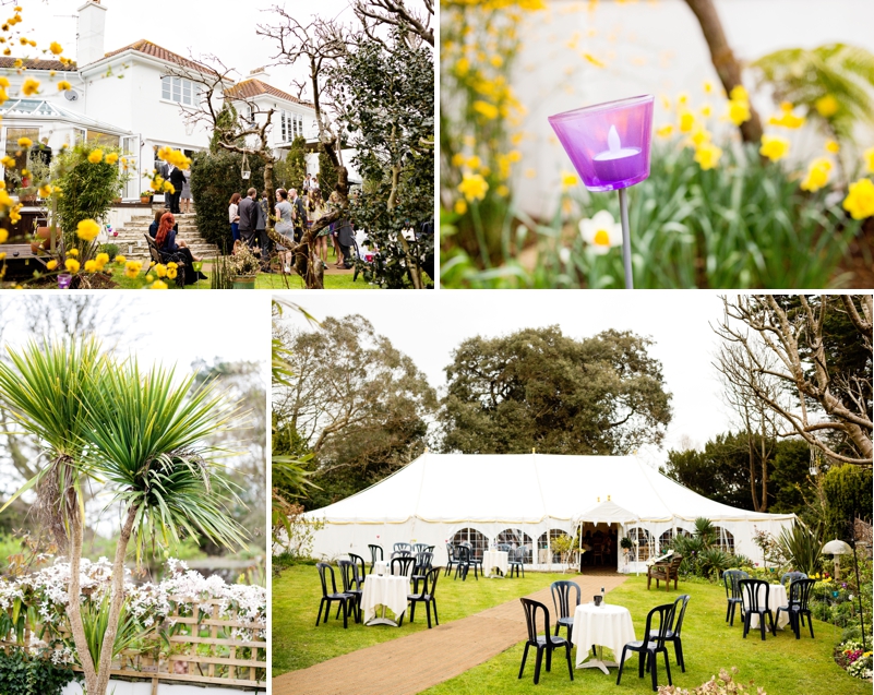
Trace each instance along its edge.
{"label": "grass lawn left of the brown path before the marquee", "polygon": [[[467,582],[460,579],[455,582],[452,575],[441,576],[436,587],[440,624],[526,596],[548,587],[562,577],[567,578],[567,575],[529,572],[524,578],[481,578],[479,582],[474,579],[472,575]],[[339,575],[337,580],[340,580]],[[316,627],[315,612],[319,610],[321,598],[322,586],[314,565],[290,567],[273,580],[271,611],[273,675],[304,669],[363,647],[428,630],[423,610],[421,616],[419,611],[416,611],[415,623],[410,625],[404,620],[399,628],[385,625],[367,627],[350,622],[348,630],[344,630],[343,614],[339,620],[334,620],[336,603],[327,624],[320,623]],[[439,658],[439,655],[434,656]],[[516,668],[518,669],[518,664]],[[499,687],[494,692],[501,690],[502,687]]]}

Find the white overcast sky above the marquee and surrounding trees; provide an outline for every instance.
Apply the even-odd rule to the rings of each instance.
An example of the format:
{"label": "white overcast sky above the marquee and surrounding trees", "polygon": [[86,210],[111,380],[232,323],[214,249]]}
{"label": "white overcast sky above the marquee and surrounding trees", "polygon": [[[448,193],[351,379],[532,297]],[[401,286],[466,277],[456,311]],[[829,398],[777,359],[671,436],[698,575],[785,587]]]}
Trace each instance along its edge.
{"label": "white overcast sky above the marquee and surrounding trees", "polygon": [[[324,292],[292,298],[316,319],[360,313],[378,333],[409,355],[435,388],[462,340],[495,337],[525,327],[558,324],[574,338],[608,328],[649,336],[650,355],[663,366],[667,390],[673,394],[673,419],[662,451],[639,454],[658,465],[669,448],[690,438],[703,446],[730,428],[711,362],[718,339],[709,323],[721,317],[716,293],[693,291],[610,292],[594,290],[442,290],[438,292]],[[307,327],[297,312],[286,321]]]}

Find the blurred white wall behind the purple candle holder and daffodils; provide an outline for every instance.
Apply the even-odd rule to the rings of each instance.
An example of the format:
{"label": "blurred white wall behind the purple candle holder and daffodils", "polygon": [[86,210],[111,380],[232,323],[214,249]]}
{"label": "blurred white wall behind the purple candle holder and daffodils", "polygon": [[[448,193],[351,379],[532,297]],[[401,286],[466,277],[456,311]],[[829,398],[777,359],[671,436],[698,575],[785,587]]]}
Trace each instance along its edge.
{"label": "blurred white wall behind the purple candle holder and daffodils", "polygon": [[[742,61],[780,48],[813,48],[833,41],[862,46],[874,52],[874,2],[871,0],[717,0],[722,25]],[[701,27],[683,0],[655,2],[587,2],[552,0],[549,11],[528,15],[524,47],[513,80],[525,105],[523,160],[514,177],[517,200],[530,214],[554,211],[561,170],[570,159],[549,127],[552,113],[637,94],[667,94],[673,100],[687,92],[693,104],[705,100],[705,80],[718,85]],[[577,37],[576,49],[568,44]],[[586,51],[606,63],[596,68],[580,57]],[[749,75],[747,75],[749,76]],[[747,88],[754,85],[746,84]],[[768,95],[753,95],[764,120],[775,111]],[[717,112],[722,110],[722,101]],[[656,99],[655,122],[669,115]],[[822,147],[810,129],[791,133],[793,149],[804,160]],[[874,144],[874,133],[862,134]],[[532,169],[536,178],[525,176]]]}

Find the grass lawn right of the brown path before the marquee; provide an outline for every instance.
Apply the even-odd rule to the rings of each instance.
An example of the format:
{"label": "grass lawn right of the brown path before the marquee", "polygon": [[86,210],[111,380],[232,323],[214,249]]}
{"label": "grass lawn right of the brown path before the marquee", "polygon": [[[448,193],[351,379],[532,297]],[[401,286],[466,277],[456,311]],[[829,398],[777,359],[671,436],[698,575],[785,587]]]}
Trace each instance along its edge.
{"label": "grass lawn right of the brown path before the marquee", "polygon": [[[534,573],[529,573],[534,576]],[[548,580],[544,578],[544,583]],[[480,583],[481,584],[481,583]],[[510,584],[510,583],[504,583]],[[540,585],[542,586],[543,583]],[[536,587],[535,587],[536,588]],[[758,634],[751,631],[746,639],[742,638],[743,628],[740,621],[729,627],[726,619],[726,592],[721,586],[681,583],[681,591],[692,598],[686,609],[683,624],[683,654],[686,672],[674,667],[675,658],[672,647],[668,647],[671,658],[671,675],[674,685],[693,688],[720,668],[738,667],[738,680],[755,681],[768,695],[854,695],[871,694],[871,683],[851,678],[831,658],[831,651],[840,638],[840,630],[818,621],[814,621],[815,639],[810,632],[802,632],[801,639],[795,640],[791,631],[778,631],[777,637],[770,633],[763,643]],[[516,595],[522,596],[522,591]],[[274,596],[276,596],[274,594]],[[643,635],[646,614],[652,607],[675,599],[678,592],[646,590],[646,577],[630,577],[618,589],[611,591],[607,600],[610,603],[625,606],[632,613],[637,637]],[[440,601],[440,599],[438,599]],[[441,603],[442,606],[442,603]],[[274,603],[274,621],[276,621]],[[552,607],[550,607],[551,609]],[[314,611],[313,611],[314,612]],[[806,630],[806,627],[804,628]],[[276,644],[274,637],[274,645]],[[604,649],[606,652],[609,650]],[[561,652],[553,652],[552,672],[541,672],[540,684],[534,686],[534,652],[529,651],[525,674],[518,680],[522,663],[523,644],[507,649],[495,658],[482,663],[462,675],[445,681],[424,691],[428,695],[474,695],[487,693],[567,693],[585,692],[587,695],[600,693],[618,695],[619,693],[651,693],[650,679],[637,678],[637,657],[632,656],[625,663],[622,684],[616,687],[616,670],[611,669],[604,675],[597,669],[574,671],[574,682],[567,678],[566,664]],[[439,655],[431,655],[440,658]],[[576,655],[573,654],[572,658]],[[659,684],[667,685],[665,661],[659,657]],[[755,693],[755,688],[752,690]]]}

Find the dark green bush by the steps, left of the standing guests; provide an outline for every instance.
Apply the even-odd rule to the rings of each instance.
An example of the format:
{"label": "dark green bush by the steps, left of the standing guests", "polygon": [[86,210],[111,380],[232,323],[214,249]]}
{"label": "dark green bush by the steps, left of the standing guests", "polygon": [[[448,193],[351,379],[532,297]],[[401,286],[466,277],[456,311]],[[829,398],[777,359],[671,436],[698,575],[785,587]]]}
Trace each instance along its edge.
{"label": "dark green bush by the steps, left of the standing guests", "polygon": [[242,155],[236,152],[207,149],[194,153],[191,161],[191,195],[197,201],[197,231],[227,253],[234,244],[228,221],[230,196],[239,193],[244,197],[250,188],[259,193],[264,190],[264,161],[258,157],[248,158],[252,171],[248,180],[240,173]]}

